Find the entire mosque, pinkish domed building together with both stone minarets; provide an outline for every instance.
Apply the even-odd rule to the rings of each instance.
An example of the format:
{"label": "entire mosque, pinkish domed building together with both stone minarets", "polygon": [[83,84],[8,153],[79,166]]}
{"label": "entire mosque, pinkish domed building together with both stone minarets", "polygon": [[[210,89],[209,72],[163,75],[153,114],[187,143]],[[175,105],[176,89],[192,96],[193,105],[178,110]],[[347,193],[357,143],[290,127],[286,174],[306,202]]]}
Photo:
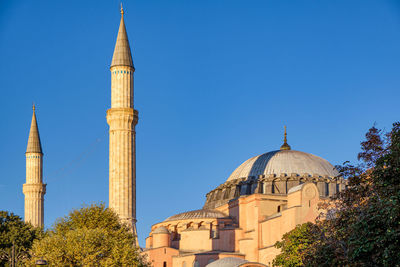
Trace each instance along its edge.
{"label": "entire mosque, pinkish domed building together with both stone minarets", "polygon": [[[121,7],[121,22],[111,71],[109,207],[136,234],[135,126],[132,54]],[[278,147],[278,146],[277,146]],[[43,226],[46,185],[43,153],[33,111],[26,151],[25,221]],[[221,180],[222,182],[222,180]],[[172,215],[154,224],[142,254],[154,267],[270,266],[283,234],[315,221],[318,203],[345,188],[323,158],[280,149],[252,157],[206,194],[201,209]]]}

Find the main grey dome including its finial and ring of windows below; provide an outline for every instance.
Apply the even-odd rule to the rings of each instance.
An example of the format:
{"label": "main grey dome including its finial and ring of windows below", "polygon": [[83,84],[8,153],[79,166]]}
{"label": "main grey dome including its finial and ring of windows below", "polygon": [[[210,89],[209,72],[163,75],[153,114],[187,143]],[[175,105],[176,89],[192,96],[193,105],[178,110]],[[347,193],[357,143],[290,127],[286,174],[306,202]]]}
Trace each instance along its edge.
{"label": "main grey dome including its finial and ring of windows below", "polygon": [[228,179],[206,195],[204,209],[215,209],[233,199],[251,194],[285,195],[303,183],[317,185],[321,197],[333,196],[344,181],[328,161],[310,153],[291,150],[286,127],[280,150],[243,162]]}

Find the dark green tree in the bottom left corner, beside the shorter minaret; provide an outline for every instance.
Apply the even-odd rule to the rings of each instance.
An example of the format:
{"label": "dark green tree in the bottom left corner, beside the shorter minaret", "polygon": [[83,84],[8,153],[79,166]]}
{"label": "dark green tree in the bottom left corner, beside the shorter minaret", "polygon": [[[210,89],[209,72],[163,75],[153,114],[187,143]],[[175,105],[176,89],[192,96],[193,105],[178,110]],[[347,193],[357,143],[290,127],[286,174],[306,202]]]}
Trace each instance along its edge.
{"label": "dark green tree in the bottom left corner, beside the shorter minaret", "polygon": [[40,228],[25,223],[19,216],[0,211],[0,266],[11,266],[12,254],[15,265],[22,266],[22,260],[30,257],[33,241],[41,234]]}

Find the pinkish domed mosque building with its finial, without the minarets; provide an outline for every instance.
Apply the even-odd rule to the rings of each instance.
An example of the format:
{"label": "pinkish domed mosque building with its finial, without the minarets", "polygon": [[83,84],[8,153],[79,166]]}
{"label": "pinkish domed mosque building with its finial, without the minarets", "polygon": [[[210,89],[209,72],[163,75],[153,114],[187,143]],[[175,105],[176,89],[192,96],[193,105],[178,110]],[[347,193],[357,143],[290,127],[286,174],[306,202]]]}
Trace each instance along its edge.
{"label": "pinkish domed mosque building with its finial, without the minarets", "polygon": [[243,162],[202,209],[154,224],[144,253],[155,267],[270,266],[276,241],[344,189],[337,176],[328,161],[292,150],[285,132],[279,150]]}

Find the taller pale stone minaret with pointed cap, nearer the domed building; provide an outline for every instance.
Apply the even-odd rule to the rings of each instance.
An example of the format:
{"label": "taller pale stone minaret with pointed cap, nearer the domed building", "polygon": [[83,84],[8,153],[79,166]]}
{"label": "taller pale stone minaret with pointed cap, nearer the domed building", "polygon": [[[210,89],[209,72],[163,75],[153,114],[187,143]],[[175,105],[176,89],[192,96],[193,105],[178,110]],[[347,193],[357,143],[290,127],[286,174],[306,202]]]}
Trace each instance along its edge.
{"label": "taller pale stone minaret with pointed cap, nearer the domed building", "polygon": [[136,234],[136,148],[138,111],[133,108],[133,67],[131,49],[121,5],[121,22],[111,62],[109,206]]}

